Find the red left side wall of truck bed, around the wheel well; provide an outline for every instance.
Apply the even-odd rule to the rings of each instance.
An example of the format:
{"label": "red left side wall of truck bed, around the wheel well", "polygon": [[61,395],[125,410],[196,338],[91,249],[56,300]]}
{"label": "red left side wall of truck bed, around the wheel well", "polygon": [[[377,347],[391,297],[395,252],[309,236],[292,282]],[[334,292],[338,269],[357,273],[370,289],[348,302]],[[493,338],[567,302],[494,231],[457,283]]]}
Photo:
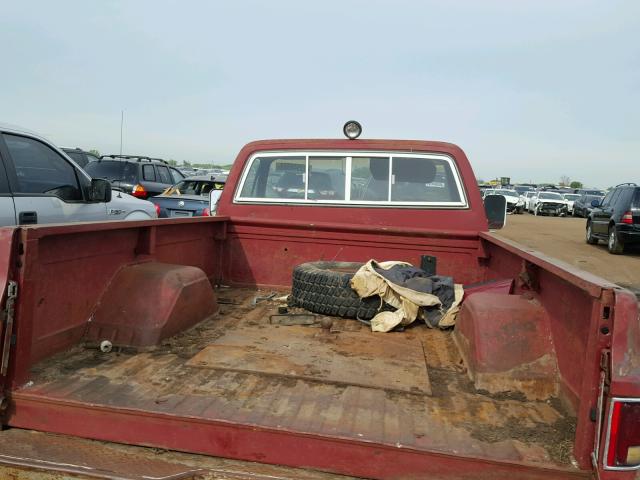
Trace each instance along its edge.
{"label": "red left side wall of truck bed, around the wheel well", "polygon": [[[13,384],[26,381],[35,362],[80,340],[122,267],[158,261],[196,266],[214,277],[221,251],[216,239],[225,228],[226,220],[215,218],[22,229]],[[144,285],[131,295],[145,295]]]}

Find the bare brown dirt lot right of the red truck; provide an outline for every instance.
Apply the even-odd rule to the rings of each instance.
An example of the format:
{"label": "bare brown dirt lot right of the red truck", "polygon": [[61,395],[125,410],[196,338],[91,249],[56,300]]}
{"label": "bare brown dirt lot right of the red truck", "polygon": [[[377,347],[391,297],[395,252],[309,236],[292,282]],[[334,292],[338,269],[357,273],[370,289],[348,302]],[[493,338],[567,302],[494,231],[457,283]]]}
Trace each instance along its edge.
{"label": "bare brown dirt lot right of the red truck", "polygon": [[612,255],[604,242],[585,242],[584,218],[509,215],[494,234],[570,263],[640,294],[640,249]]}

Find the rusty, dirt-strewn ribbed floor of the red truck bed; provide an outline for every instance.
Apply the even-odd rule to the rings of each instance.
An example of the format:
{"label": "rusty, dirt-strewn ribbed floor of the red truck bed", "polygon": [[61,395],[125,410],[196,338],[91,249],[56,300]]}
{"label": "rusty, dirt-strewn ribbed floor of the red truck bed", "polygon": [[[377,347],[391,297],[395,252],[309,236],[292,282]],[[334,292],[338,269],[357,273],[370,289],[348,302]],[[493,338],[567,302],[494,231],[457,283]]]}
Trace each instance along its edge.
{"label": "rusty, dirt-strewn ribbed floor of the red truck bed", "polygon": [[[37,365],[32,381],[14,396],[572,468],[575,419],[565,414],[560,402],[535,402],[517,393],[490,395],[475,390],[461,366],[450,332],[416,326],[404,332],[372,334],[355,320],[336,321],[331,332],[315,325],[276,327],[269,323],[276,304],[265,301],[253,305],[257,294],[264,291],[220,290],[218,315],[167,339],[152,351],[116,349],[103,354],[78,345]],[[237,345],[243,331],[251,332],[248,338],[255,341],[260,332],[266,339],[276,329],[278,336],[284,338],[288,331],[308,329],[314,332],[309,335],[318,338],[336,338],[348,331],[350,338],[361,335],[363,342],[372,337],[384,342],[385,336],[393,342],[418,342],[424,350],[425,373],[428,372],[424,388],[413,392],[406,391],[406,385],[382,388],[375,382],[374,386],[363,383],[361,378],[354,378],[350,384],[348,378],[339,375],[337,380],[329,374],[314,378],[312,370],[311,374],[278,374],[273,365],[258,371],[259,361],[255,359],[257,366],[243,367],[236,362],[226,368],[224,363],[216,362],[215,355],[212,357],[212,345]],[[370,345],[365,350],[371,354]],[[207,351],[202,360],[202,352]],[[347,363],[354,354],[332,350],[332,355]],[[299,360],[300,356],[296,358]],[[384,377],[385,372],[378,373]]]}

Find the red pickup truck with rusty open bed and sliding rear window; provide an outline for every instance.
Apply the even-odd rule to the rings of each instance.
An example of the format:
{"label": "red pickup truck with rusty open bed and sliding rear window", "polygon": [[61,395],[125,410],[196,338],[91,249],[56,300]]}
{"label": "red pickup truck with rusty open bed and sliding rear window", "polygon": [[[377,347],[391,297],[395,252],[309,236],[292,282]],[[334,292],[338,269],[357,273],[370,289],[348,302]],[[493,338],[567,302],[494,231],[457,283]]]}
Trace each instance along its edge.
{"label": "red pickup truck with rusty open bed and sliding rear window", "polygon": [[[459,147],[253,142],[215,209],[2,232],[4,425],[364,478],[634,478],[635,297],[490,234]],[[287,305],[300,265],[372,259],[462,285],[455,325]]]}

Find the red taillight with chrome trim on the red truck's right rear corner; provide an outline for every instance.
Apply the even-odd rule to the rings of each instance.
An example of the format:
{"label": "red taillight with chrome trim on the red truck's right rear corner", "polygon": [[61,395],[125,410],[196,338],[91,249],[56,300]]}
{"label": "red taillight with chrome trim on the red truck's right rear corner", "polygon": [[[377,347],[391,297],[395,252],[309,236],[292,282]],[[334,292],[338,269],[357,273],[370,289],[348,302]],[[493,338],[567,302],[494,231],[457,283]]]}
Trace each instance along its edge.
{"label": "red taillight with chrome trim on the red truck's right rear corner", "polygon": [[640,399],[611,400],[604,463],[609,470],[640,469]]}

